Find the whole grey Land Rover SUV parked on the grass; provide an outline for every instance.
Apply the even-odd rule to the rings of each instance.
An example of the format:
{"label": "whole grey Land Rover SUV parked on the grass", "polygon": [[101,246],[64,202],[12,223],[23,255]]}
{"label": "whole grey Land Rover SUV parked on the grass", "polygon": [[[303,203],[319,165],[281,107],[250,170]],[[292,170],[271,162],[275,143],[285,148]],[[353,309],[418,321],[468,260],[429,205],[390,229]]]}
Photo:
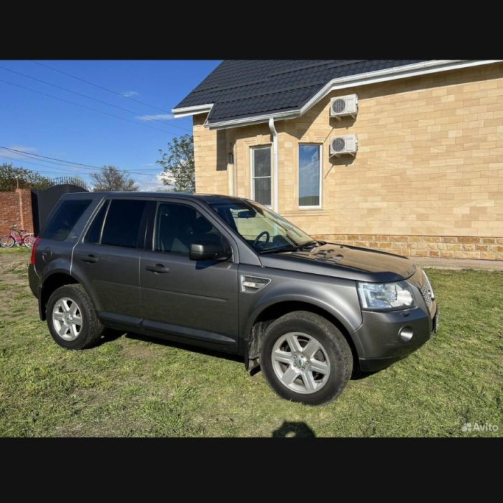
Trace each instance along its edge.
{"label": "whole grey Land Rover SUV parked on the grass", "polygon": [[62,347],[91,347],[107,327],[218,349],[307,404],[437,329],[428,277],[408,258],[314,240],[228,196],[66,194],[36,238],[29,283]]}

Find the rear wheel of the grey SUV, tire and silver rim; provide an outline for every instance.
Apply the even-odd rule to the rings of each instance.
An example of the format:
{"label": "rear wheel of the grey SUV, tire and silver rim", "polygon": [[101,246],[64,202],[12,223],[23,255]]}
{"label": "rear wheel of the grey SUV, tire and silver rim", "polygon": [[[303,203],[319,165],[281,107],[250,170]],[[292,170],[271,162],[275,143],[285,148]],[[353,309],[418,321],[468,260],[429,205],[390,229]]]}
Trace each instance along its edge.
{"label": "rear wheel of the grey SUV, tire and silver rim", "polygon": [[54,290],[47,305],[47,322],[54,341],[66,349],[92,347],[103,333],[92,301],[80,284]]}

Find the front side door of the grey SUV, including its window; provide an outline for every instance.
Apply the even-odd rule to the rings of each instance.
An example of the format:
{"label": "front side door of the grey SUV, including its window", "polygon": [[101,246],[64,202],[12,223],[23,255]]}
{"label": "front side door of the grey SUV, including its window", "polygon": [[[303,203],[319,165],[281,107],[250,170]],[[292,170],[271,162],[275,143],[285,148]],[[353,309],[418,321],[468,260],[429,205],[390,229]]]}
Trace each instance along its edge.
{"label": "front side door of the grey SUV, including its window", "polygon": [[[232,245],[232,238],[190,201],[159,201],[151,216],[152,246],[140,260],[143,326],[235,351],[238,343],[238,263],[192,261],[192,242]],[[150,249],[149,249],[150,248]],[[233,257],[237,257],[234,249]]]}

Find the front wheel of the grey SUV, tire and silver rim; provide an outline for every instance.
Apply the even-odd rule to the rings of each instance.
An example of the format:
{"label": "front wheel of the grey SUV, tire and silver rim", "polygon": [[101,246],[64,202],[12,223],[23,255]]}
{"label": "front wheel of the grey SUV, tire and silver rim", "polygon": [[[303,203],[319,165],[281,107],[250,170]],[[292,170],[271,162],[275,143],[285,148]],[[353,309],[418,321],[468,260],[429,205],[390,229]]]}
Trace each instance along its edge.
{"label": "front wheel of the grey SUV, tire and silver rim", "polygon": [[279,396],[309,405],[335,400],[353,370],[344,335],[330,321],[307,311],[285,314],[268,326],[260,363]]}

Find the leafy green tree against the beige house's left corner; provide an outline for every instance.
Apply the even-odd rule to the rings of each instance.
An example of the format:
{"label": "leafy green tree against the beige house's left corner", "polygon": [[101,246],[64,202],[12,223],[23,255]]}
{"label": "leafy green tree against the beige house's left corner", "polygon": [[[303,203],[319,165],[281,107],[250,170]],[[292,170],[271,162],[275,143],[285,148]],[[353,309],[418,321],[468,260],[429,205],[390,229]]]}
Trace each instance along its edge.
{"label": "leafy green tree against the beige house's left corner", "polygon": [[168,152],[156,163],[164,168],[163,184],[170,185],[175,192],[194,192],[196,178],[194,173],[194,138],[187,134],[173,138],[168,143]]}

